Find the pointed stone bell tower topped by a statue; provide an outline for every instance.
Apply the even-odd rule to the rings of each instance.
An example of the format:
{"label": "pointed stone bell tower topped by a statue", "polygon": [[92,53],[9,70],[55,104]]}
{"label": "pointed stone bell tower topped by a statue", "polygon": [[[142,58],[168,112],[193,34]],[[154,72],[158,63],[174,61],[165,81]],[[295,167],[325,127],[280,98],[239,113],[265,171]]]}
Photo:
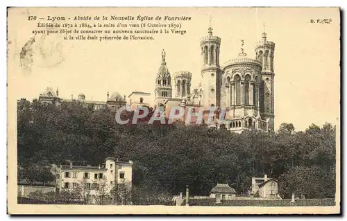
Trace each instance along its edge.
{"label": "pointed stone bell tower topped by a statue", "polygon": [[166,53],[162,49],[162,63],[160,64],[157,77],[155,78],[155,103],[157,105],[164,104],[164,102],[171,98],[171,76],[169,69],[167,69],[167,62],[165,61]]}

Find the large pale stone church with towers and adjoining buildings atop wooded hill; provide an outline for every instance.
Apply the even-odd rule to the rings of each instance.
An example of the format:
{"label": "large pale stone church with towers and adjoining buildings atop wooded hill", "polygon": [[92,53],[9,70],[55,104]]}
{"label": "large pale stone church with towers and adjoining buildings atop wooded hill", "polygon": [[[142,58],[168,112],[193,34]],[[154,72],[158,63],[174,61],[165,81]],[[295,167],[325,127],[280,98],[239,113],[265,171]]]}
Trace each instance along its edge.
{"label": "large pale stone church with towers and adjoining buildings atop wooded hill", "polygon": [[[192,112],[203,112],[203,120],[209,118],[209,108],[217,109],[209,127],[224,128],[231,132],[245,130],[274,131],[274,91],[273,91],[273,58],[275,43],[266,38],[255,46],[255,58],[248,58],[244,53],[242,40],[241,53],[232,60],[220,64],[219,51],[221,37],[212,33],[201,38],[201,81],[197,88],[191,89],[192,73],[176,71],[172,75],[167,68],[166,52],[162,50],[162,60],[155,78],[154,103],[150,101],[151,93],[133,91],[126,101],[125,96],[115,92],[107,93],[106,101],[86,100],[79,94],[77,100],[85,105],[92,105],[94,110],[110,108],[116,111],[119,107],[130,105],[132,109],[139,106],[164,107],[165,116],[169,116],[171,107],[189,109]],[[58,89],[40,94],[39,100],[44,103],[59,103],[76,100],[58,98]],[[219,116],[223,109],[223,117]],[[185,111],[186,113],[186,111]],[[185,116],[182,119],[185,121]],[[188,124],[196,123],[196,116]],[[187,121],[185,121],[187,123]]]}

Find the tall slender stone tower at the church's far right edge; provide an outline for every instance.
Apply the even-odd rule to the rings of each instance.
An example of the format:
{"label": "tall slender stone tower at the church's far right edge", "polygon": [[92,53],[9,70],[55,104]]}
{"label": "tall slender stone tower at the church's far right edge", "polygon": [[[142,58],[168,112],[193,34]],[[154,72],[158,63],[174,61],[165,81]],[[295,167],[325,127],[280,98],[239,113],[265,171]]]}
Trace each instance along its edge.
{"label": "tall slender stone tower at the church's far right edge", "polygon": [[260,115],[269,122],[269,130],[274,130],[274,93],[273,93],[273,57],[275,43],[266,39],[266,33],[262,33],[262,39],[255,46],[255,56],[262,63],[260,80]]}

